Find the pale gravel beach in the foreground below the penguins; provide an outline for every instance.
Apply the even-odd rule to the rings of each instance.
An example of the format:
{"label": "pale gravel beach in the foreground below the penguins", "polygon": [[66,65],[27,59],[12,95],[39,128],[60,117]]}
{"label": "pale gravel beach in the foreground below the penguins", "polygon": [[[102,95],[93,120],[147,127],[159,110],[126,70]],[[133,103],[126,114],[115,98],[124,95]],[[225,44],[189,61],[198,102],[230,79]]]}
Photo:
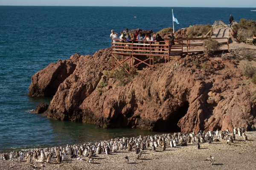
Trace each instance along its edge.
{"label": "pale gravel beach in the foreground below the penguins", "polygon": [[[111,153],[111,155],[100,154],[94,157],[94,163],[88,163],[88,158],[78,161],[69,156],[61,164],[53,162],[27,163],[26,160],[0,161],[0,170],[255,170],[256,168],[256,132],[247,132],[248,141],[242,136],[236,135],[233,144],[228,145],[224,140],[212,144],[202,143],[201,149],[196,149],[195,144],[184,147],[166,147],[166,151],[157,148],[156,152],[151,150],[143,151],[142,159],[137,159],[134,149],[131,152],[126,150]],[[211,165],[205,159],[209,156],[215,158]],[[125,156],[129,156],[129,163],[125,162]]]}

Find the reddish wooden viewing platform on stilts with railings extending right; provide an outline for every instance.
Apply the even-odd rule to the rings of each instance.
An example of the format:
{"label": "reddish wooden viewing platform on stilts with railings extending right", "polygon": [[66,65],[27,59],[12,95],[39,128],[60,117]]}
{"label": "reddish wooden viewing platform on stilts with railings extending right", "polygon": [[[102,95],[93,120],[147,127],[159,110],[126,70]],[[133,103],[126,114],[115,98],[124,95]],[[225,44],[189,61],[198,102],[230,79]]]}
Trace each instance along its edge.
{"label": "reddish wooden viewing platform on stilts with railings extending right", "polygon": [[[112,70],[122,66],[127,73],[133,74],[134,68],[140,64],[154,67],[154,58],[163,57],[169,62],[172,56],[182,56],[204,51],[204,40],[208,38],[180,38],[175,40],[175,45],[170,45],[169,40],[165,41],[131,41],[112,40]],[[221,44],[218,51],[229,50],[229,38],[212,38]],[[122,56],[122,57],[120,57]],[[136,64],[134,64],[136,61]],[[125,68],[125,63],[129,68]]]}

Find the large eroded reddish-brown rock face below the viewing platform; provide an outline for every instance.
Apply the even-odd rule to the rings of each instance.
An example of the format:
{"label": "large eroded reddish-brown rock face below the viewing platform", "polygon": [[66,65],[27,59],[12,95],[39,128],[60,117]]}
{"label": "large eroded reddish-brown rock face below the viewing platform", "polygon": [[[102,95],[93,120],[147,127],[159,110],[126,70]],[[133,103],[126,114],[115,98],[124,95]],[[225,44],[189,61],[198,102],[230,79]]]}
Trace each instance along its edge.
{"label": "large eroded reddish-brown rock face below the viewing platform", "polygon": [[[195,57],[199,64],[193,62]],[[249,130],[256,123],[256,105],[250,99],[255,86],[241,77],[238,62],[203,54],[174,57],[153,69],[144,68],[127,85],[108,79],[100,95],[99,82],[107,79],[103,71],[111,69],[111,49],[103,49],[79,57],[46,115],[100,127],[190,132],[242,126]]]}

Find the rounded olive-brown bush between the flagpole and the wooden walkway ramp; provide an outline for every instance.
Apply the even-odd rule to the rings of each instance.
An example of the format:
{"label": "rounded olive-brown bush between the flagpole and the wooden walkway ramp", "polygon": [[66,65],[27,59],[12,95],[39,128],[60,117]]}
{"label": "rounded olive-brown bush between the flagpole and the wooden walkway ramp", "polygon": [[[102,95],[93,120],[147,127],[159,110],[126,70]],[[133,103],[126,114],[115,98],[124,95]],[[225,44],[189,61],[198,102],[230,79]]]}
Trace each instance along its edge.
{"label": "rounded olive-brown bush between the flagpole and the wooden walkway ramp", "polygon": [[207,34],[211,30],[211,25],[196,25],[189,27],[186,31],[188,37],[199,37]]}

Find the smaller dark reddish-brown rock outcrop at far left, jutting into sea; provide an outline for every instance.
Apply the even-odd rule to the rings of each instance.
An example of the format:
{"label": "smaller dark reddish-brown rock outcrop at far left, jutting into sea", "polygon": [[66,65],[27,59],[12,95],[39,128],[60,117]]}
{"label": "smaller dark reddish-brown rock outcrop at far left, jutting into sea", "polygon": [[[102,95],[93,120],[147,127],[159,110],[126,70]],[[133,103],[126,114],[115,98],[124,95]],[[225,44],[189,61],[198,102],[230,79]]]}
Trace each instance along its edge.
{"label": "smaller dark reddish-brown rock outcrop at far left, jutting into sea", "polygon": [[31,78],[29,96],[54,96],[58,86],[73,73],[79,54],[73,55],[64,61],[58,60],[46,68],[38,71]]}

